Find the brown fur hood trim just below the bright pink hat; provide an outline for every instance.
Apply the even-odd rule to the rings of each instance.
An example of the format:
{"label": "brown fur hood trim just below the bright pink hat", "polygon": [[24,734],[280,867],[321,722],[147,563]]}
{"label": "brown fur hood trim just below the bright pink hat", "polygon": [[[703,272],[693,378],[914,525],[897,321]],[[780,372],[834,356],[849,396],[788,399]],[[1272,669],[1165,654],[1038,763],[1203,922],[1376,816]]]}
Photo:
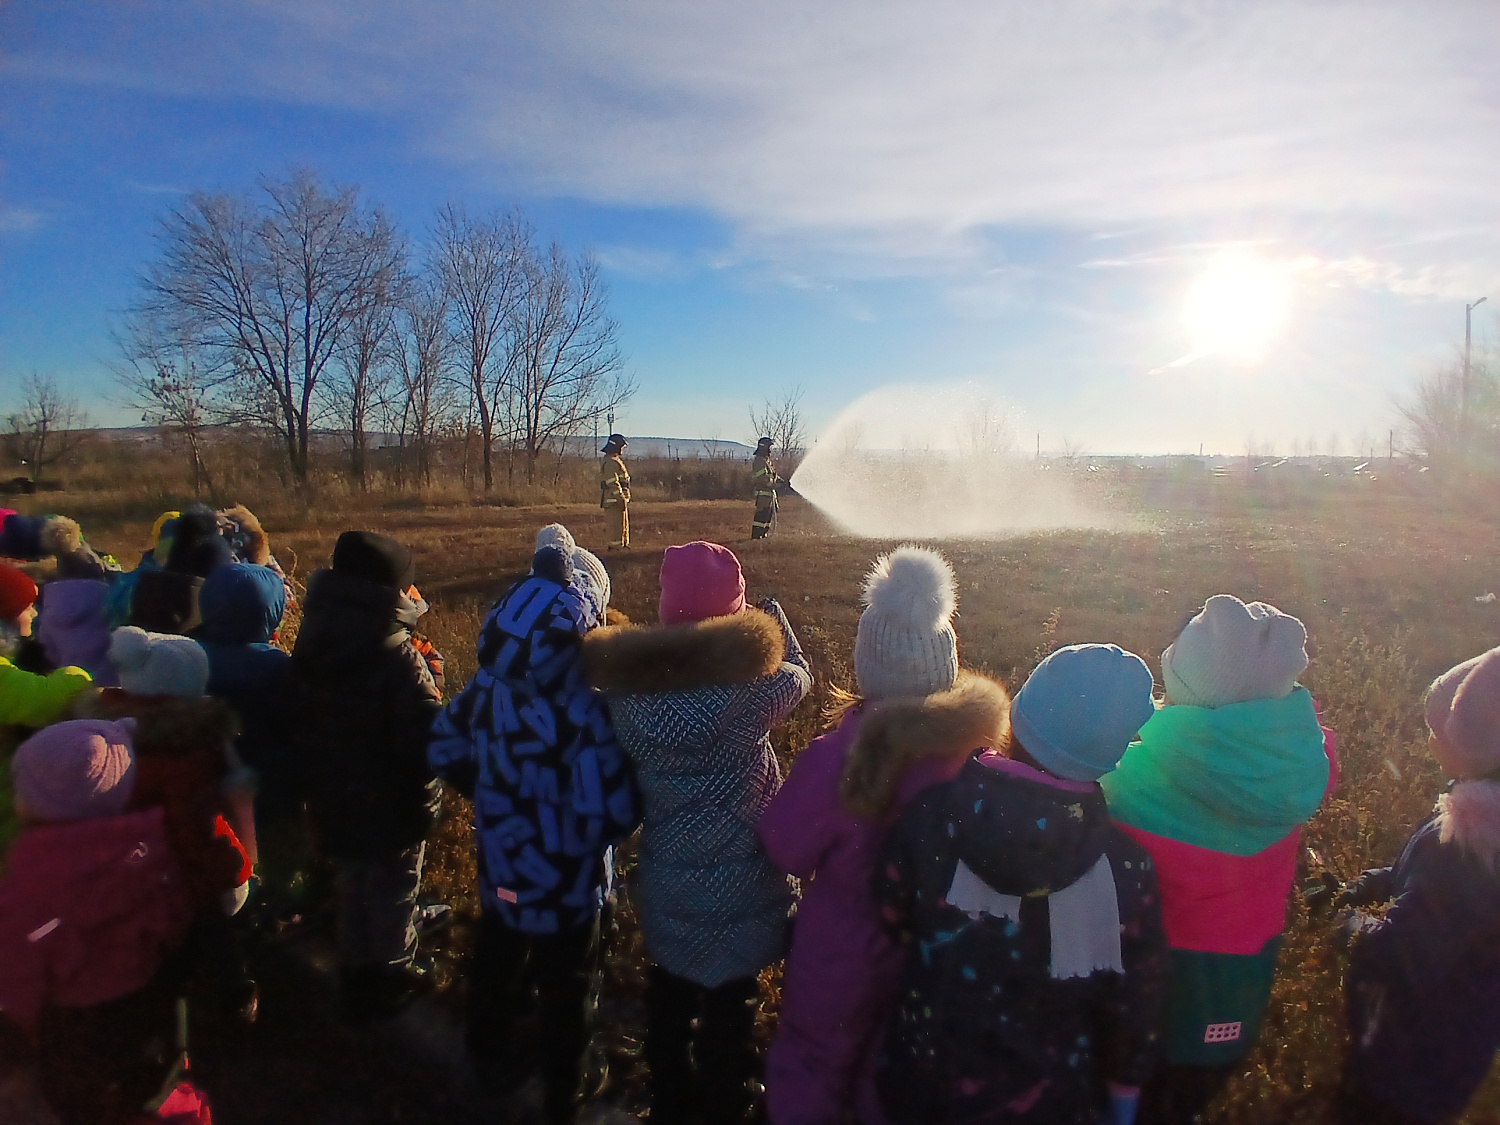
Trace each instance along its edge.
{"label": "brown fur hood trim just below the bright pink hat", "polygon": [[609,626],[584,638],[588,682],[618,694],[748,684],[784,657],[782,627],[759,609],[676,626]]}

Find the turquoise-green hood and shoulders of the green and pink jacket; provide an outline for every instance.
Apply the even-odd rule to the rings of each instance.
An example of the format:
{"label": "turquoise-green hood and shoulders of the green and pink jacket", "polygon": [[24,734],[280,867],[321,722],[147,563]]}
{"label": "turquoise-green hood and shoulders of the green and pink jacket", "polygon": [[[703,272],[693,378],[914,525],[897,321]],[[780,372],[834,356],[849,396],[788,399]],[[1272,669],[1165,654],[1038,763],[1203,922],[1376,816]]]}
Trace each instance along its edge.
{"label": "turquoise-green hood and shoulders of the green and pink jacket", "polygon": [[1164,706],[1100,784],[1120,824],[1254,855],[1317,812],[1328,771],[1312,696],[1299,687],[1284,699]]}

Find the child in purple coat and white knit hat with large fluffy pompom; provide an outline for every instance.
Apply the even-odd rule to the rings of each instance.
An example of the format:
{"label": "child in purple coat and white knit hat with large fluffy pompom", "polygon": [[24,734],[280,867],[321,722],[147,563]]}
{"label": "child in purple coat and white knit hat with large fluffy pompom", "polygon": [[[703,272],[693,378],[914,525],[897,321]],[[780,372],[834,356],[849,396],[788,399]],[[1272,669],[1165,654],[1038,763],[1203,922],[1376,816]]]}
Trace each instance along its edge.
{"label": "child in purple coat and white knit hat with large fluffy pompom", "polygon": [[952,568],[939,554],[884,555],[864,603],[860,700],[798,756],[759,824],[771,862],[802,880],[765,1060],[772,1125],[882,1120],[876,1047],[906,956],[880,922],[874,861],[906,806],[1002,746],[1010,726],[1005,688],[958,670]]}

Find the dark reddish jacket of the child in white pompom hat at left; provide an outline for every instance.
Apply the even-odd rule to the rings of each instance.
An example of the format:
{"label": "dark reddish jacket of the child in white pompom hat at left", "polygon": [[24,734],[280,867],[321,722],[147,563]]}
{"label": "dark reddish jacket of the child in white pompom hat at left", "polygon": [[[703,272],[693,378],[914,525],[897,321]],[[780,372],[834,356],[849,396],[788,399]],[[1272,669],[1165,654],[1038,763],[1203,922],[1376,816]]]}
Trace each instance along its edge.
{"label": "dark reddish jacket of the child in white pompom hat at left", "polygon": [[237,801],[249,786],[236,777],[234,714],[207,696],[136,696],[118,687],[90,700],[88,714],[135,720],[130,807],[165,812],[166,838],[194,908],[218,909],[225,891],[250,878],[255,838],[249,804]]}

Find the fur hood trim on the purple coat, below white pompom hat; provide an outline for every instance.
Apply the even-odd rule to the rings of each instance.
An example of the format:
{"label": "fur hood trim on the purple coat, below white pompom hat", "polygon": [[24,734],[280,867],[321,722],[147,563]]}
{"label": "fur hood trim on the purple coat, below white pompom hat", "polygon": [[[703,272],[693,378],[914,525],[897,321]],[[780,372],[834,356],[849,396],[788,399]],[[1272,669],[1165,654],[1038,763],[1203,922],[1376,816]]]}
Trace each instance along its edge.
{"label": "fur hood trim on the purple coat, below white pompom hat", "polygon": [[838,784],[844,808],[878,820],[916,762],[1005,746],[1010,726],[1010,694],[978,672],[960,670],[946,692],[866,704]]}

